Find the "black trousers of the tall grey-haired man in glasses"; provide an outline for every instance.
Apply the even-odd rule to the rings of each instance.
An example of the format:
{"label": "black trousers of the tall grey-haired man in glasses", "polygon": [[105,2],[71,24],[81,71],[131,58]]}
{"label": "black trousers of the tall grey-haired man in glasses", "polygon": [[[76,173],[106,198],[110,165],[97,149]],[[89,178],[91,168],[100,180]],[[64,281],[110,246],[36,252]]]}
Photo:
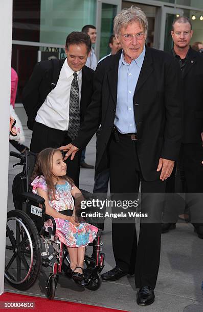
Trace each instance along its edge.
{"label": "black trousers of the tall grey-haired man in glasses", "polygon": [[[147,213],[151,220],[148,223],[146,219],[141,218],[138,243],[135,220],[112,220],[112,245],[116,265],[135,274],[137,288],[150,286],[154,289],[160,264],[161,211],[166,182],[143,179],[137,141],[131,140],[129,136],[119,135],[118,142],[112,135],[109,142],[109,159],[110,192],[114,193],[113,199],[137,199],[141,184],[141,212]],[[112,212],[118,213],[118,207],[112,207]]]}

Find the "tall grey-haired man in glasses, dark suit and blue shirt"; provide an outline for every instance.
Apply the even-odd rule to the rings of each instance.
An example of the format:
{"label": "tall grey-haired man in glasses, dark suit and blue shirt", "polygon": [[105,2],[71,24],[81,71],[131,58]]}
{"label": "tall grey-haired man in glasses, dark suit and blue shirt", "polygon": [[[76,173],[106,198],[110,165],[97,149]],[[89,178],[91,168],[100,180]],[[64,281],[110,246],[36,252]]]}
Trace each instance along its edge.
{"label": "tall grey-haired man in glasses, dark suit and blue shirt", "polygon": [[[78,137],[61,149],[73,159],[101,123],[96,170],[109,166],[114,198],[136,199],[141,184],[142,212],[149,221],[141,220],[138,243],[134,220],[112,222],[116,267],[102,279],[134,273],[137,303],[149,305],[160,262],[162,199],[181,142],[181,74],[172,56],[145,45],[147,18],[141,9],[122,10],[114,34],[123,49],[98,64],[92,103]],[[114,213],[117,209],[112,207]]]}

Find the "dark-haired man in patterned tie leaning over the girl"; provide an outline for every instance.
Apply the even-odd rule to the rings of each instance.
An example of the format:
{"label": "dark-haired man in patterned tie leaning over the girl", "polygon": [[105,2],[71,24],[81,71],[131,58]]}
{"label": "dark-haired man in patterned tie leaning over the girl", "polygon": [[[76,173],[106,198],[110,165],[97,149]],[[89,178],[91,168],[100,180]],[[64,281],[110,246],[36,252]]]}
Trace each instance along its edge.
{"label": "dark-haired man in patterned tie leaning over the girl", "polygon": [[[91,39],[81,32],[67,36],[62,60],[36,64],[24,88],[22,103],[33,130],[31,151],[59,147],[76,138],[93,94],[94,70],[85,66]],[[79,185],[79,153],[68,160],[68,174]]]}

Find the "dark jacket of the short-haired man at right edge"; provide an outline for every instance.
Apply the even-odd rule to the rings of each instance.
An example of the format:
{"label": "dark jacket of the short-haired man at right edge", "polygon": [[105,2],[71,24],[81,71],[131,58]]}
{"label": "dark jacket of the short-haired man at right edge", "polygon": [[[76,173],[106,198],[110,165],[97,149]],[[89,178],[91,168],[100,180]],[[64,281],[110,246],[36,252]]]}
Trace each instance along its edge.
{"label": "dark jacket of the short-haired man at right edge", "polygon": [[188,51],[183,73],[184,134],[183,143],[201,143],[203,132],[203,56]]}

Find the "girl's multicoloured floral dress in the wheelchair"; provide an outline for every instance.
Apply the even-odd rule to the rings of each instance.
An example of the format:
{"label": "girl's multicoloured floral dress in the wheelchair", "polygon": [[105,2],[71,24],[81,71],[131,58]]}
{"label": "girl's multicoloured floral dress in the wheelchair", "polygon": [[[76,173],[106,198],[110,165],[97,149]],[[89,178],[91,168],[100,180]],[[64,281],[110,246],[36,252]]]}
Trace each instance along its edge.
{"label": "girl's multicoloured floral dress in the wheelchair", "polygon": [[[33,193],[37,194],[37,188],[48,192],[47,183],[42,175],[37,176],[31,183]],[[56,185],[55,197],[56,199],[49,198],[50,206],[57,212],[74,209],[74,199],[71,195],[71,185],[65,181],[65,184]],[[58,199],[58,200],[57,200]],[[94,225],[81,221],[79,226],[75,226],[69,220],[55,218],[56,222],[56,235],[59,240],[67,247],[81,247],[86,246],[93,242],[97,235],[98,228]],[[46,229],[52,227],[51,220],[44,222]]]}

